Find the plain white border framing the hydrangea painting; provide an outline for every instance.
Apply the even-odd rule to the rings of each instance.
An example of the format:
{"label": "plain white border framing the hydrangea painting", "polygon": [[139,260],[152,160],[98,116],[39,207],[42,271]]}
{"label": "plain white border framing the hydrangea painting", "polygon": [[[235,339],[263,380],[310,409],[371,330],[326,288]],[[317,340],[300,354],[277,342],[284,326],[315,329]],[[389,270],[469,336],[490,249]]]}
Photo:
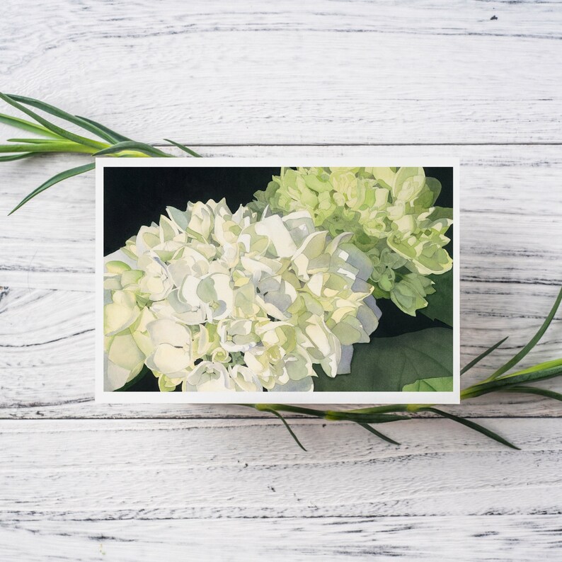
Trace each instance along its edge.
{"label": "plain white border framing the hydrangea painting", "polygon": [[[104,403],[442,403],[460,402],[460,309],[459,309],[459,159],[423,157],[381,159],[273,158],[147,158],[96,159],[96,401]],[[453,168],[453,391],[452,392],[115,392],[103,389],[103,176],[110,167],[294,167],[294,166],[431,166]],[[263,188],[265,189],[265,185]],[[185,201],[187,205],[187,200]],[[139,224],[139,227],[141,225]],[[125,241],[124,241],[125,242]]]}

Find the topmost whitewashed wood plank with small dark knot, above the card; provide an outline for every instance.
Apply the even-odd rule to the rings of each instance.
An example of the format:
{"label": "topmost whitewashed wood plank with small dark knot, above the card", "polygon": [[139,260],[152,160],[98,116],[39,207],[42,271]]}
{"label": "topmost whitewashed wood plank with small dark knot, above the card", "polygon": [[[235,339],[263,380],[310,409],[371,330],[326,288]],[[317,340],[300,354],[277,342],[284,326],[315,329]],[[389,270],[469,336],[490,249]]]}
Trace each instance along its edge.
{"label": "topmost whitewashed wood plank with small dark knot, above the card", "polygon": [[141,140],[560,142],[561,18],[558,2],[8,0],[0,78]]}

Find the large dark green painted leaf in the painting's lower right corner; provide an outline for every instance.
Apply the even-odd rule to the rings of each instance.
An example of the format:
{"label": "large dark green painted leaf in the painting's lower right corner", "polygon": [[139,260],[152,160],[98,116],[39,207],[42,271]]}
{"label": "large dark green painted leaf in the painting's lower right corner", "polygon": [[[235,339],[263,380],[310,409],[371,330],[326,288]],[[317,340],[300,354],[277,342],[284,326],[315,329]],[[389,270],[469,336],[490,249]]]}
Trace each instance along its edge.
{"label": "large dark green painted leaf in the painting's lower right corner", "polygon": [[354,346],[350,374],[331,379],[318,369],[315,391],[401,391],[418,379],[452,377],[453,331],[428,328]]}

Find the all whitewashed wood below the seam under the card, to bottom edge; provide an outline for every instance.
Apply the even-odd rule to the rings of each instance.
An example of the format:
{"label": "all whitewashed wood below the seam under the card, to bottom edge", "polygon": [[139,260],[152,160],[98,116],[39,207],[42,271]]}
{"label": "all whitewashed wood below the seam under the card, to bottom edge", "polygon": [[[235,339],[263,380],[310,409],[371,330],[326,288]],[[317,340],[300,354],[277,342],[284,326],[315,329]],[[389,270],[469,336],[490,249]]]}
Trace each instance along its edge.
{"label": "all whitewashed wood below the seam under the card, to bottom edge", "polygon": [[556,559],[561,420],[488,420],[522,452],[435,420],[394,424],[400,448],[293,425],[309,453],[278,420],[1,422],[4,559]]}

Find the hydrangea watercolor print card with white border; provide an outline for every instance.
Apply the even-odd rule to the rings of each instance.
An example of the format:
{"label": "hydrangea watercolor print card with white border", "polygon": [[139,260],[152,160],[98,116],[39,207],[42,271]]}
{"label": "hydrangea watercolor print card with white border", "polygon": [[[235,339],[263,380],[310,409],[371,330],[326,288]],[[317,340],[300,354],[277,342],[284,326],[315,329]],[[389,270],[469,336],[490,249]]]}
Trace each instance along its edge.
{"label": "hydrangea watercolor print card with white border", "polygon": [[98,159],[96,399],[459,401],[457,162],[309,164]]}

